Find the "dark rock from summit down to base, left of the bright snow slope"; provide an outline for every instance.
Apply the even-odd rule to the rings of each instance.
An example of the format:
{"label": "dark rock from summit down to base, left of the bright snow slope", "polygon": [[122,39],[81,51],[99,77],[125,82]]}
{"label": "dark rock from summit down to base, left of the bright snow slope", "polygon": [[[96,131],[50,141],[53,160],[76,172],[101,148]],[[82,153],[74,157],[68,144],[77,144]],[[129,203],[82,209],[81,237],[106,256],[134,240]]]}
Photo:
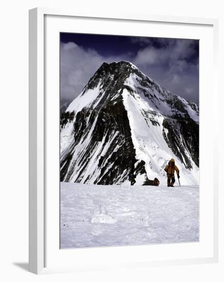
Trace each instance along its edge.
{"label": "dark rock from summit down to base, left of the bright snow slope", "polygon": [[[103,90],[101,92],[105,92],[105,94],[101,97],[102,93],[99,93],[96,102],[100,99],[100,103],[94,109],[84,108],[76,114],[73,132],[74,144],[70,149],[70,153],[62,159],[62,169],[60,171],[61,181],[69,182],[73,172],[71,152],[75,150],[80,139],[88,135],[89,130],[93,127],[95,119],[96,123],[91,136],[91,142],[85,149],[85,157],[78,163],[78,166],[83,167],[83,169],[80,169],[74,182],[79,183],[82,181],[85,164],[90,161],[90,157],[98,143],[103,143],[101,144],[101,150],[98,152],[98,155],[100,155],[109,140],[113,138],[115,134],[116,138],[110,143],[107,152],[99,159],[99,175],[97,179],[94,180],[94,184],[111,185],[117,183],[119,182],[120,175],[126,170],[125,176],[120,179],[122,182],[128,178],[128,174],[131,170],[135,171],[134,165],[137,162],[135,159],[135,149],[132,143],[128,114],[121,97],[122,91],[125,88],[124,81],[132,71],[133,69],[131,65],[126,62],[123,64],[120,63],[119,67],[117,67],[116,63],[110,65],[104,63],[90,79],[85,90],[94,89],[100,80],[103,79],[103,83],[101,82]],[[119,93],[119,95],[114,98],[117,93]],[[84,94],[85,91],[83,95]],[[66,112],[61,117],[62,128],[65,123],[70,122],[70,120],[70,113]],[[87,120],[89,120],[88,124]],[[114,151],[116,147],[119,148]],[[71,167],[69,169],[70,165]],[[110,167],[109,170],[108,167]],[[139,164],[136,171],[145,172],[144,164]],[[89,178],[87,177],[84,183],[88,182],[88,179]]]}

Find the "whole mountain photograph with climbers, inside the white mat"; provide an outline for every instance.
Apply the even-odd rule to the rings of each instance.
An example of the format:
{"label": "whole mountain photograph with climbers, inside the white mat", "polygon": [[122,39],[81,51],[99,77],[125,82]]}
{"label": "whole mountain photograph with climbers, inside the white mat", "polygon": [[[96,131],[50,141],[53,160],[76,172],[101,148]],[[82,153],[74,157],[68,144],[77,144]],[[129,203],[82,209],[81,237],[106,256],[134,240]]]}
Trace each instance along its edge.
{"label": "whole mountain photograph with climbers, inside the white mat", "polygon": [[60,33],[60,248],[199,240],[199,42]]}

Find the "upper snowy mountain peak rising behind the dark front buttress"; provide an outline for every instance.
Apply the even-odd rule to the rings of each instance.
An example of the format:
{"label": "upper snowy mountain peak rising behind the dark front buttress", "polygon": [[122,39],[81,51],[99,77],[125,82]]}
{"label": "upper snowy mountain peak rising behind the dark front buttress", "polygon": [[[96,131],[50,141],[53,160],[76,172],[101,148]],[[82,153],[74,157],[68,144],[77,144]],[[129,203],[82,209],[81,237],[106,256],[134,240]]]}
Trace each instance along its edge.
{"label": "upper snowy mountain peak rising behind the dark front buttress", "polygon": [[[77,112],[84,107],[105,106],[108,101],[121,98],[124,89],[136,103],[150,111],[172,117],[190,116],[198,122],[198,107],[184,98],[170,93],[130,62],[103,63],[80,95],[71,103],[67,112]],[[99,103],[99,101],[104,103]],[[144,106],[145,105],[145,106]]]}

